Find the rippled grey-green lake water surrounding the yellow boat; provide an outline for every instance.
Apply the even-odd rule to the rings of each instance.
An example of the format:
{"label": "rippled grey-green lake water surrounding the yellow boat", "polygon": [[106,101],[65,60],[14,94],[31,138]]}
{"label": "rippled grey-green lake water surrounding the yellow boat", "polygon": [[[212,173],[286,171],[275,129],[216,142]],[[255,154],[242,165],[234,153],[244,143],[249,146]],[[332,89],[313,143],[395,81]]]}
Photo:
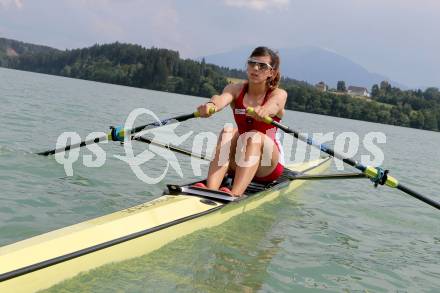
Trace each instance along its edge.
{"label": "rippled grey-green lake water surrounding the yellow boat", "polygon": [[[66,176],[53,157],[34,152],[55,147],[58,136],[121,125],[136,108],[160,118],[193,112],[199,97],[115,86],[0,68],[0,246],[149,201],[167,183],[200,178],[190,159],[177,155],[183,177],[170,168],[151,185],[102,145],[103,166],[87,168],[82,156]],[[151,117],[143,116],[146,122]],[[383,132],[385,168],[405,185],[440,201],[440,134],[409,128],[287,111],[286,125],[303,132]],[[230,110],[179,125],[183,135],[232,122]],[[142,123],[143,124],[143,123]],[[165,130],[156,133],[169,136]],[[331,144],[331,143],[330,143]],[[184,144],[191,147],[191,138]],[[139,153],[146,145],[136,144]],[[361,147],[356,159],[369,154]],[[143,166],[160,175],[167,163]],[[333,171],[336,166],[332,165]],[[202,170],[206,173],[206,166]],[[331,171],[331,170],[330,170]],[[346,168],[346,172],[353,172]],[[309,182],[227,223],[179,239],[162,249],[104,266],[68,280],[58,292],[438,292],[440,213],[369,180]]]}

